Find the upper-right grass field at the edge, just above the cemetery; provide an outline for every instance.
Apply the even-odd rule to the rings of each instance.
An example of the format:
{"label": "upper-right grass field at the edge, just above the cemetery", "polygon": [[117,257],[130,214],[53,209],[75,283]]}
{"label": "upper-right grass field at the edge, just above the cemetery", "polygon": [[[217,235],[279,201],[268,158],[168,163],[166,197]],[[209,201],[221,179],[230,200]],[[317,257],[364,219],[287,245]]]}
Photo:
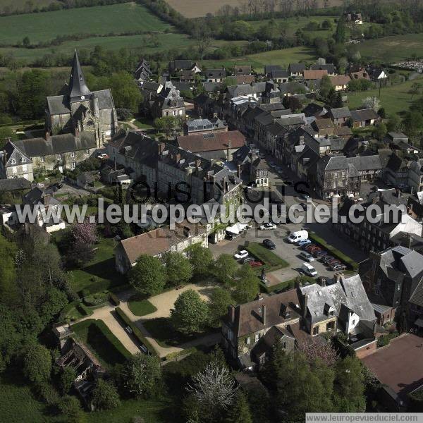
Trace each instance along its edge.
{"label": "upper-right grass field at the edge, just above the cemetery", "polygon": [[368,39],[358,45],[362,57],[383,63],[407,59],[412,54],[423,56],[423,34],[396,35]]}

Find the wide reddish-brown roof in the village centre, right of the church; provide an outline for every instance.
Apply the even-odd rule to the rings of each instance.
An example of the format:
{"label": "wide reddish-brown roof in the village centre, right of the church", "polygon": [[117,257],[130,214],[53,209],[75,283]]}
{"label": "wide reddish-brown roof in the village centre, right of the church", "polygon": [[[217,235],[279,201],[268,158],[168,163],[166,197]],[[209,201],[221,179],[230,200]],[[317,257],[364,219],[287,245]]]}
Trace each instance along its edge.
{"label": "wide reddish-brown roof in the village centre, right of the church", "polygon": [[231,130],[186,135],[178,137],[176,142],[180,148],[192,153],[201,153],[225,150],[228,148],[228,142],[231,142],[231,149],[238,149],[245,144],[245,137],[238,130]]}

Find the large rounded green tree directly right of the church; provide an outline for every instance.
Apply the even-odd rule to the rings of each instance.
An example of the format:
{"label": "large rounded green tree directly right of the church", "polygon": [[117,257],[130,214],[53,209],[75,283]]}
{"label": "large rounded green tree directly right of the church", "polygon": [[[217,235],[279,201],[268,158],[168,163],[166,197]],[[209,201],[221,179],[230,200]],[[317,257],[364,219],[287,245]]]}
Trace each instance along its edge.
{"label": "large rounded green tree directly right of the church", "polygon": [[125,71],[114,73],[109,78],[109,88],[113,94],[116,108],[129,109],[137,112],[142,100],[140,88],[137,86],[134,78]]}

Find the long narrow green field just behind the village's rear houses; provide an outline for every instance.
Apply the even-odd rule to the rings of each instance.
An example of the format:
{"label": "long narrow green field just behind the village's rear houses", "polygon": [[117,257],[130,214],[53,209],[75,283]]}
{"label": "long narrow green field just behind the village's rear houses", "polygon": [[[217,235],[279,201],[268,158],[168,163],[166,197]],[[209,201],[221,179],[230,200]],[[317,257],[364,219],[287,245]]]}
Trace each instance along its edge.
{"label": "long narrow green field just behind the village's rear houses", "polygon": [[231,68],[235,65],[251,65],[255,71],[264,71],[264,65],[280,65],[282,68],[287,68],[289,63],[298,63],[305,61],[314,63],[317,56],[313,49],[307,47],[293,47],[290,49],[264,51],[264,53],[249,54],[236,59],[225,59],[221,61],[202,61],[202,64],[207,68],[217,68],[225,66]]}

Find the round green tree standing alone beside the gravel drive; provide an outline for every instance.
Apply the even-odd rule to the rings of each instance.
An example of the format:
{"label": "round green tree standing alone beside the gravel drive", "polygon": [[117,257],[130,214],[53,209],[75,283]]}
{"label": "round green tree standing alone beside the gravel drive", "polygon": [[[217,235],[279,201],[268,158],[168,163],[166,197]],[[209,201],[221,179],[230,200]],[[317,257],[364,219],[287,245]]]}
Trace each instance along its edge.
{"label": "round green tree standing alone beside the gravel drive", "polygon": [[188,289],[181,293],[171,309],[171,321],[181,333],[199,332],[207,323],[209,309],[197,291]]}

